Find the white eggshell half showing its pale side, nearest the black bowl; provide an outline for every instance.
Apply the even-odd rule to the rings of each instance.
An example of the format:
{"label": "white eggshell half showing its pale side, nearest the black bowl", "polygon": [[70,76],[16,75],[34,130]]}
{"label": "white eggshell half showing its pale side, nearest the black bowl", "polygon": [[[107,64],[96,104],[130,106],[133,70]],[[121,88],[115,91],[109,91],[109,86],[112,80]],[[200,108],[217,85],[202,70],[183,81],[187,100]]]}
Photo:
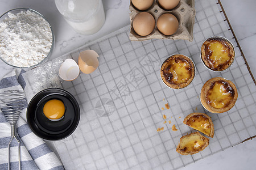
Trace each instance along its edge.
{"label": "white eggshell half showing its pale side, nearest the black bowl", "polygon": [[59,75],[60,78],[66,81],[72,81],[79,76],[80,70],[76,61],[68,58],[60,66]]}

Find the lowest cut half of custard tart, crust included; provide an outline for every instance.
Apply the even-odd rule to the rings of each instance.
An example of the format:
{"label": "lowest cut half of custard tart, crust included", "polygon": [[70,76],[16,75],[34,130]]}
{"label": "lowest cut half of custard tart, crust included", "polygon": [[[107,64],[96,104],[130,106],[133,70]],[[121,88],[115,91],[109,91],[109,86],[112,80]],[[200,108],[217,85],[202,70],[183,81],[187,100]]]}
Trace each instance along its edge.
{"label": "lowest cut half of custard tart, crust included", "polygon": [[180,138],[176,151],[181,155],[193,155],[203,151],[209,145],[209,139],[198,131]]}

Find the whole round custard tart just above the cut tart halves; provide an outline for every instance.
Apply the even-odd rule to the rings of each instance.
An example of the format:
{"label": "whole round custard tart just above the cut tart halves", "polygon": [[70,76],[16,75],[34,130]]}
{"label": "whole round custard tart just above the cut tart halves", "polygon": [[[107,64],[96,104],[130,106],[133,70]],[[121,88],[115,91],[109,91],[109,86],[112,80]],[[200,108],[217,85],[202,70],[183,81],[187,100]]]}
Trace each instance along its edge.
{"label": "whole round custard tart just above the cut tart halves", "polygon": [[212,113],[229,111],[236,104],[237,97],[234,83],[221,77],[205,82],[200,94],[201,104]]}

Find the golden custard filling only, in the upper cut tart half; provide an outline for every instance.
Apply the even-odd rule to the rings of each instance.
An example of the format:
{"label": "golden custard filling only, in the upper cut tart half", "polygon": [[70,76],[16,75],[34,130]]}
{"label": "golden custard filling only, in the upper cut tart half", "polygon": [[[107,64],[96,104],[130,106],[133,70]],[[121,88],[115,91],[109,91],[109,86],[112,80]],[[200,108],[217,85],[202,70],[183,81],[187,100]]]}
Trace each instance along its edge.
{"label": "golden custard filling only, in the upper cut tart half", "polygon": [[201,131],[206,135],[210,135],[210,122],[209,119],[203,115],[195,115],[189,118],[186,125],[191,128]]}

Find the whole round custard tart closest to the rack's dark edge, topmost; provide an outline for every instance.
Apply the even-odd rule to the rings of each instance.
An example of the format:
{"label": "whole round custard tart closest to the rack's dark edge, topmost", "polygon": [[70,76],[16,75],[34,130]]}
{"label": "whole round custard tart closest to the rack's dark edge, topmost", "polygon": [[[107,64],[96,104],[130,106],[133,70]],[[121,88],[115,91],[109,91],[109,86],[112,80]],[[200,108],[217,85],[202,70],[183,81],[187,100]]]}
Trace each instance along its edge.
{"label": "whole round custard tart closest to the rack's dark edge, topmost", "polygon": [[220,36],[210,37],[201,46],[201,59],[204,65],[213,71],[224,71],[234,61],[234,46]]}

